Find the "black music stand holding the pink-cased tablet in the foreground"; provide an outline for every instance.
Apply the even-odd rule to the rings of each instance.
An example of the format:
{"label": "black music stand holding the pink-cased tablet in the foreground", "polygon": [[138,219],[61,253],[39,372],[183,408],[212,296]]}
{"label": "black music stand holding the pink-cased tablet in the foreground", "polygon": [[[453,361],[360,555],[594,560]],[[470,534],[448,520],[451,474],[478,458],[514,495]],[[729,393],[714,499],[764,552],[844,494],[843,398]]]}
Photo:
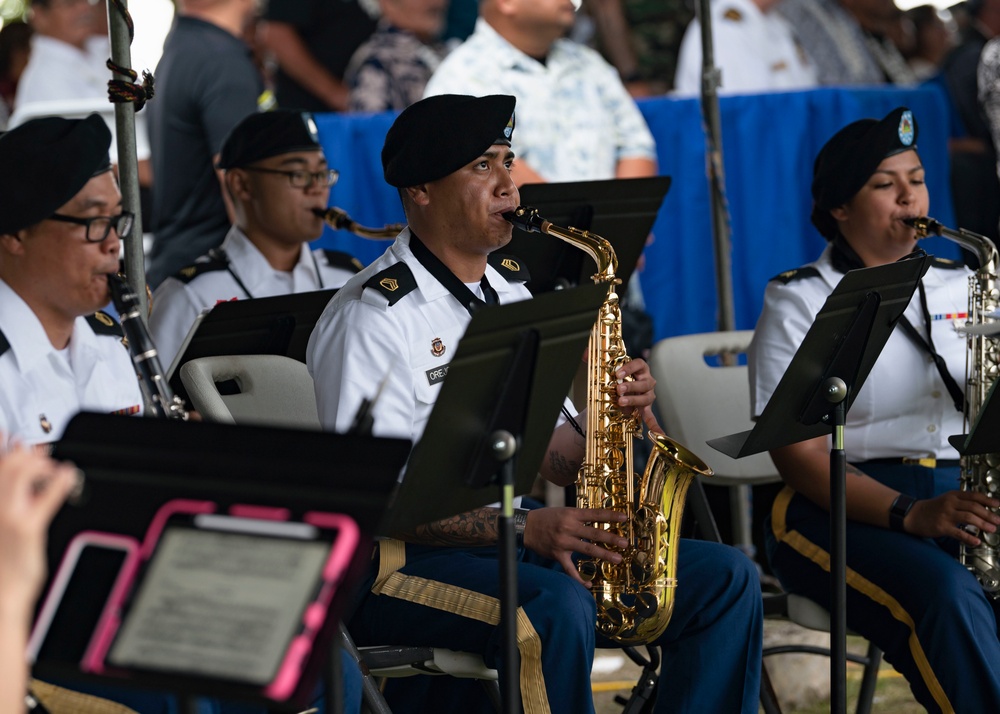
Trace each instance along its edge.
{"label": "black music stand holding the pink-cased tablet in the foreground", "polygon": [[[204,677],[130,672],[123,679],[84,674],[77,667],[79,658],[68,656],[48,661],[40,657],[36,672],[67,681],[171,691],[182,697],[247,701],[274,712],[301,711],[311,698],[311,684],[327,673],[336,622],[353,604],[354,586],[370,563],[376,525],[409,452],[410,442],[403,439],[106,414],[74,417],[54,445],[53,455],[84,471],[86,489],[83,502],[64,507],[52,523],[50,573],[76,534],[96,530],[141,540],[160,506],[175,498],[211,500],[220,508],[239,503],[287,508],[293,514],[345,513],[357,522],[362,539],[338,586],[299,691],[288,702],[262,698],[248,685]],[[92,632],[96,621],[89,624]],[[75,623],[80,631],[66,634],[89,639],[87,625]],[[338,689],[328,684],[330,703],[338,701],[337,694]]]}

